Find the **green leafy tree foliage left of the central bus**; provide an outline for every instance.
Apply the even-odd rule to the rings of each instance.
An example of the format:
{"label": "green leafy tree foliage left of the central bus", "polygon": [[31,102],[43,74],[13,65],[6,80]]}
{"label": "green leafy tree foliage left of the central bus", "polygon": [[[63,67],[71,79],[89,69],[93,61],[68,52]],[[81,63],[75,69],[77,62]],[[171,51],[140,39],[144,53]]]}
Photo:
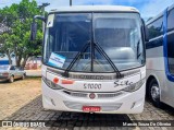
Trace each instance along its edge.
{"label": "green leafy tree foliage left of the central bus", "polygon": [[29,40],[33,17],[39,14],[41,11],[35,0],[22,0],[18,4],[14,3],[0,10],[0,23],[9,27],[8,32],[0,34],[0,54],[13,51],[16,66],[23,64],[22,59],[25,61],[30,56],[41,55],[41,22],[38,22],[37,40]]}

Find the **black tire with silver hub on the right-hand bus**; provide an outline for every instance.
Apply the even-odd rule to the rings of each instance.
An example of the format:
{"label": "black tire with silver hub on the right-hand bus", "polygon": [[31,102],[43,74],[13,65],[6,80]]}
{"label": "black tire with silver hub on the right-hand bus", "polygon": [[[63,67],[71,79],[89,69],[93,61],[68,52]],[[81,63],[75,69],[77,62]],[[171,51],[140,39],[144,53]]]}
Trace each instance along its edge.
{"label": "black tire with silver hub on the right-hand bus", "polygon": [[160,102],[160,87],[156,79],[152,79],[149,83],[149,97],[156,107],[161,107]]}

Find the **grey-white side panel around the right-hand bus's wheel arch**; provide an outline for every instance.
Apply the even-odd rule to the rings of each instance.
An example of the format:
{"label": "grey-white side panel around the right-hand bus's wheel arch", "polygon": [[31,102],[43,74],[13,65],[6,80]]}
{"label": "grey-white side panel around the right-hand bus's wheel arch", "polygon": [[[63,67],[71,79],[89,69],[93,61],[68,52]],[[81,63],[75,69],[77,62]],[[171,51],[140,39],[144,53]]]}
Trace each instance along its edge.
{"label": "grey-white side panel around the right-hand bus's wheel arch", "polygon": [[156,48],[149,48],[146,50],[147,52],[147,80],[150,76],[154,76],[160,86],[160,101],[166,102],[169,98],[167,87],[165,85],[166,75],[165,75],[165,67],[164,67],[164,57],[163,57],[163,46],[159,46]]}

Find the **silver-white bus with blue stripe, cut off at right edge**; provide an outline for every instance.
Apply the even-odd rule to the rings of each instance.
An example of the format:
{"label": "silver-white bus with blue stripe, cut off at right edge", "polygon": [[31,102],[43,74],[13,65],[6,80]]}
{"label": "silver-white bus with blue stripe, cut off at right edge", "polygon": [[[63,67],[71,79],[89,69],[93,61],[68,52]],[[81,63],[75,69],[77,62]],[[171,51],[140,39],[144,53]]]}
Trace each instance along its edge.
{"label": "silver-white bus with blue stripe, cut off at right edge", "polygon": [[174,4],[147,22],[147,95],[174,107]]}

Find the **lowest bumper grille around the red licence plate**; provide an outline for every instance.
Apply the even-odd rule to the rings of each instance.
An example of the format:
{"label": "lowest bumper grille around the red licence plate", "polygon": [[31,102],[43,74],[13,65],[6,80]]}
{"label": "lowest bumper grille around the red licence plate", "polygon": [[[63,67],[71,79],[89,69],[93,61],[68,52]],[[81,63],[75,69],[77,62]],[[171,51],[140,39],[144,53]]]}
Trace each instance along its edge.
{"label": "lowest bumper grille around the red licence plate", "polygon": [[122,104],[89,104],[89,103],[75,103],[75,102],[64,102],[64,105],[70,109],[82,110],[83,106],[100,106],[102,111],[114,111],[117,110]]}

